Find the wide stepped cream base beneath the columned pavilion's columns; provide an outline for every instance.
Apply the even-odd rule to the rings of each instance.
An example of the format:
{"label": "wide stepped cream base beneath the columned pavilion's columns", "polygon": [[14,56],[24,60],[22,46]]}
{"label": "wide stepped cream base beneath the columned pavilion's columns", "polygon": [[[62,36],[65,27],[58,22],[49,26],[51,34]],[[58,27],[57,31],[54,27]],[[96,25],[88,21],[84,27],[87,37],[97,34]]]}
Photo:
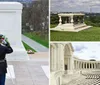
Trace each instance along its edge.
{"label": "wide stepped cream base beneath the columned pavilion's columns", "polygon": [[77,24],[77,25],[74,25],[73,23],[72,24],[62,24],[62,25],[58,25],[57,27],[55,28],[52,28],[50,30],[52,31],[70,31],[70,32],[79,32],[81,30],[85,30],[85,29],[88,29],[88,28],[91,28],[92,26],[87,26],[86,24]]}

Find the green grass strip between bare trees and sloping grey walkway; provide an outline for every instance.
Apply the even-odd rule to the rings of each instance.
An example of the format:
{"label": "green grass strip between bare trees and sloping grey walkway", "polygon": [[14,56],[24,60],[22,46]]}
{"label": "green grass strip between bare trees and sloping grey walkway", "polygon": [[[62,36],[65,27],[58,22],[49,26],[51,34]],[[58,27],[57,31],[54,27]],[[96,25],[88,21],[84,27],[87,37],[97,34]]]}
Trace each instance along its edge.
{"label": "green grass strip between bare trees and sloping grey walkway", "polygon": [[35,40],[36,42],[42,44],[45,47],[49,47],[49,40],[44,40],[40,36],[34,34],[34,33],[24,33],[25,36],[29,37],[32,40]]}

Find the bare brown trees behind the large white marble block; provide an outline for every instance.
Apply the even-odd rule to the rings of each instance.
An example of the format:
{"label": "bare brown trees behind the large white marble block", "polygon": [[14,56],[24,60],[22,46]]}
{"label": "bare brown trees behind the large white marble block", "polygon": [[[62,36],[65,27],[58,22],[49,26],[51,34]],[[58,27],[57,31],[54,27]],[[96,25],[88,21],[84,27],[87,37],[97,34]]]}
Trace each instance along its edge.
{"label": "bare brown trees behind the large white marble block", "polygon": [[48,37],[49,1],[33,1],[23,10],[23,23],[29,27],[30,32],[38,32],[44,38]]}

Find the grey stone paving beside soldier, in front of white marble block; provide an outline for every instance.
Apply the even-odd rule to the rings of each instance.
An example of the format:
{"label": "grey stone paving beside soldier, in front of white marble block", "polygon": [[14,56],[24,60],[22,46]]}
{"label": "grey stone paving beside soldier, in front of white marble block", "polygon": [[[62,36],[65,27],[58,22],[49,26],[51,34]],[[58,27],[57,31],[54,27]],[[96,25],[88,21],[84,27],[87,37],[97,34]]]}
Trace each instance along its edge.
{"label": "grey stone paving beside soldier, in front of white marble block", "polygon": [[14,67],[15,79],[13,82],[7,79],[6,85],[48,85],[49,79],[42,69],[42,66],[48,66],[48,57],[45,54],[41,56],[44,60],[37,54],[31,55],[28,61],[9,61],[8,64]]}

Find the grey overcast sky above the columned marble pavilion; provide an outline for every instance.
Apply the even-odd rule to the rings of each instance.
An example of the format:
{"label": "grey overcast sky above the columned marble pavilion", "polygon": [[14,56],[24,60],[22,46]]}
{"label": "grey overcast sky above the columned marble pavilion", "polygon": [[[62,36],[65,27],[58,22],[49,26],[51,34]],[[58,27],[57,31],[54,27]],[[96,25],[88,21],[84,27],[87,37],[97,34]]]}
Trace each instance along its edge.
{"label": "grey overcast sky above the columned marble pavilion", "polygon": [[100,0],[51,0],[51,12],[100,12]]}

